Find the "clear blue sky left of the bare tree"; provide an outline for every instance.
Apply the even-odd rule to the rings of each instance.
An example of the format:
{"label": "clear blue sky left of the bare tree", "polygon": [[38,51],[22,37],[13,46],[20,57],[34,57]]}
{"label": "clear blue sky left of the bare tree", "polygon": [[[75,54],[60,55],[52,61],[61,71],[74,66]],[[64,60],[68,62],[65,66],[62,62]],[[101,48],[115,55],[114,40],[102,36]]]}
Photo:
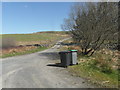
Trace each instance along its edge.
{"label": "clear blue sky left of the bare tree", "polygon": [[2,34],[61,31],[73,2],[2,2]]}

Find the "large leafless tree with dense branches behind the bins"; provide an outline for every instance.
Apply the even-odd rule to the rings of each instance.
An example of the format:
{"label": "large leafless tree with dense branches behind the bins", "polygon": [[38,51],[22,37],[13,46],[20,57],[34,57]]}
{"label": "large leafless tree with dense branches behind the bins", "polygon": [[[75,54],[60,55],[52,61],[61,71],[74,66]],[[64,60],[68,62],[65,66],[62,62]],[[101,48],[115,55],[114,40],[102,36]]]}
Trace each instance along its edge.
{"label": "large leafless tree with dense branches behind the bins", "polygon": [[118,3],[75,4],[62,29],[71,32],[73,39],[80,43],[84,55],[92,55],[105,42],[117,40]]}

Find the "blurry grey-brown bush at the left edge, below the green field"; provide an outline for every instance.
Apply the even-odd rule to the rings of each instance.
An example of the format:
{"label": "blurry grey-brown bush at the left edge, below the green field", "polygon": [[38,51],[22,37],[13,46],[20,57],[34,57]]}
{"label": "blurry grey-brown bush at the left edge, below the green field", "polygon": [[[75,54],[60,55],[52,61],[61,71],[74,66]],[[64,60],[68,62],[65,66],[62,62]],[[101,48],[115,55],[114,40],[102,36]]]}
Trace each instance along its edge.
{"label": "blurry grey-brown bush at the left edge, below the green field", "polygon": [[15,46],[16,46],[16,41],[14,38],[11,37],[2,38],[2,45],[0,46],[0,48],[2,47],[2,49],[6,49]]}

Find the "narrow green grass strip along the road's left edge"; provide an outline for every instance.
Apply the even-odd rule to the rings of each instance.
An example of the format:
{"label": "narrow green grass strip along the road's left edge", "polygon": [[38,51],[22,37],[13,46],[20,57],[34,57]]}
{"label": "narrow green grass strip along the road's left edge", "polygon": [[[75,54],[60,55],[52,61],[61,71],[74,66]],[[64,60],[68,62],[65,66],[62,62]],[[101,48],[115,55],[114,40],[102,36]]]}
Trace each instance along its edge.
{"label": "narrow green grass strip along the road's left edge", "polygon": [[38,48],[31,49],[31,50],[23,51],[23,52],[13,52],[13,53],[8,53],[8,54],[3,54],[2,56],[0,56],[0,58],[30,54],[30,53],[35,53],[35,52],[42,51],[45,49],[47,49],[47,48],[46,47],[38,47]]}

